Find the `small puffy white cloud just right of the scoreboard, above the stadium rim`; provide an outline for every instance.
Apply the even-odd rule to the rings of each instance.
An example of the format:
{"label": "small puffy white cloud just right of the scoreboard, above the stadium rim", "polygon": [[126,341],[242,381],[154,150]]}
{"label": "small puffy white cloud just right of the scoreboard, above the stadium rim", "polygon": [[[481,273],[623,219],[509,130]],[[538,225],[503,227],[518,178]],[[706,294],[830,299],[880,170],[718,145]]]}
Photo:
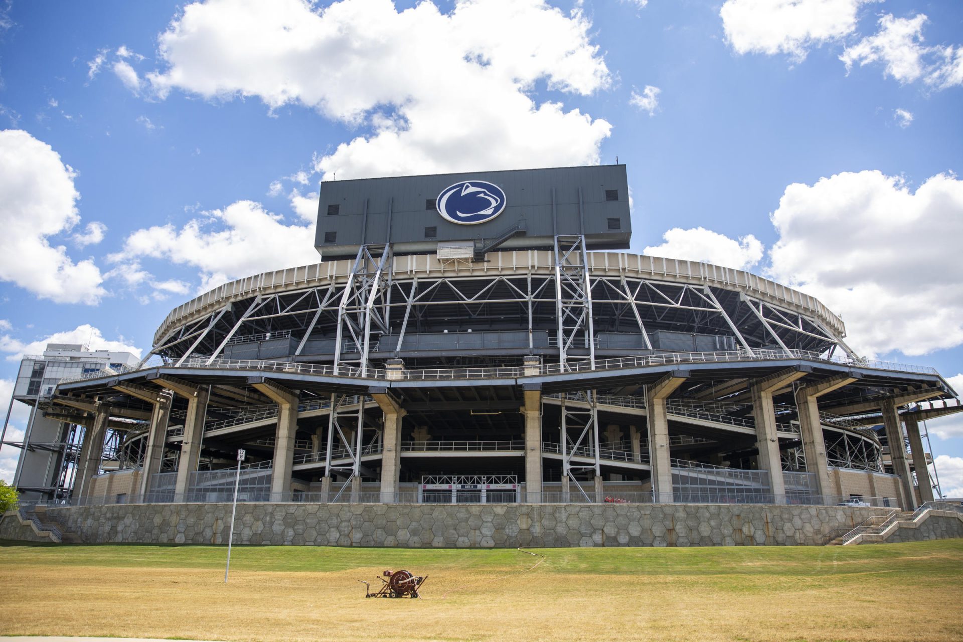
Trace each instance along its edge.
{"label": "small puffy white cloud just right of the scoreboard, above the stadium rim", "polygon": [[688,230],[675,227],[665,232],[663,239],[664,244],[650,245],[643,249],[642,253],[687,261],[705,261],[737,270],[749,270],[763,258],[763,244],[751,234],[735,241],[702,227]]}

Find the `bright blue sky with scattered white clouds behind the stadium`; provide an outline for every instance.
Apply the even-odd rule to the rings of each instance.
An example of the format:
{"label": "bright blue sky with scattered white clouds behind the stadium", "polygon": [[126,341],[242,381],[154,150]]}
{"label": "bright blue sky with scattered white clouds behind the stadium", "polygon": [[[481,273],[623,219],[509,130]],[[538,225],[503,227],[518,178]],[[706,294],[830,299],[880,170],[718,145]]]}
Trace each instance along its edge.
{"label": "bright blue sky with scattered white clouds behind the stadium", "polygon": [[[963,387],[959,3],[328,4],[0,2],[0,397],[49,337],[147,349],[312,261],[322,177],[616,156],[635,251],[794,285]],[[930,429],[963,493],[963,420]]]}

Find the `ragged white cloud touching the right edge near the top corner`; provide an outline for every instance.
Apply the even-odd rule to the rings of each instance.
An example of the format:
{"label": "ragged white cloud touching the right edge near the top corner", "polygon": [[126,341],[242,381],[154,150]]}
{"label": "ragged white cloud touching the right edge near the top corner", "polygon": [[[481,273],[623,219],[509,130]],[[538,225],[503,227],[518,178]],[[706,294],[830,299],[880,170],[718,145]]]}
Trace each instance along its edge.
{"label": "ragged white cloud touching the right edge near the top corner", "polygon": [[963,47],[924,45],[923,28],[927,21],[923,13],[911,18],[884,13],[879,18],[879,31],[847,47],[840,56],[846,73],[853,64],[880,63],[884,65],[883,75],[900,83],[923,79],[937,90],[963,85]]}

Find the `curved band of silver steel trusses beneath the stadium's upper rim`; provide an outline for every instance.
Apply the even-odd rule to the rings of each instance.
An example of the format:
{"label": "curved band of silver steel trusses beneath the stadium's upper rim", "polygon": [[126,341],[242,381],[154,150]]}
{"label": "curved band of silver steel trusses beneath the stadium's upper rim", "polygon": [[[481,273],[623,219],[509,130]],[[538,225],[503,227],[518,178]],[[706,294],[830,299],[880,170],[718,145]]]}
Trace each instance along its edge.
{"label": "curved band of silver steel trusses beneath the stadium's upper rim", "polygon": [[[558,347],[566,360],[591,358],[608,337],[635,335],[631,349],[658,348],[652,336],[660,330],[732,337],[747,351],[846,349],[819,321],[739,291],[624,275],[579,278],[580,271],[586,273],[580,263],[584,252],[572,244],[560,245],[557,275],[473,272],[399,279],[386,269],[391,262],[386,250],[365,246],[347,282],[236,301],[170,332],[154,351],[174,360],[213,361],[224,347],[287,336],[297,344],[295,358],[330,361],[337,351],[339,364],[362,367],[372,359],[402,356],[417,346],[418,334],[468,329],[528,330],[518,346],[528,350],[538,347],[538,333],[547,333],[549,344],[541,346]],[[589,304],[594,341],[587,339]],[[309,345],[315,339],[327,343]]]}

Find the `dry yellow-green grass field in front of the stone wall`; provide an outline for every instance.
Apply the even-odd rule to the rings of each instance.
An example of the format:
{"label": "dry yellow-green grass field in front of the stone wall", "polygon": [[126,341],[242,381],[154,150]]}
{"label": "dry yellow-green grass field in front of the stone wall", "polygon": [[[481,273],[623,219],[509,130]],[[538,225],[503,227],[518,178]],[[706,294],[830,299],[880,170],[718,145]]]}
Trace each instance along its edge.
{"label": "dry yellow-green grass field in front of the stone wall", "polygon": [[[963,540],[529,551],[237,547],[224,585],[223,547],[0,546],[0,634],[963,640]],[[363,599],[400,568],[421,600]]]}

